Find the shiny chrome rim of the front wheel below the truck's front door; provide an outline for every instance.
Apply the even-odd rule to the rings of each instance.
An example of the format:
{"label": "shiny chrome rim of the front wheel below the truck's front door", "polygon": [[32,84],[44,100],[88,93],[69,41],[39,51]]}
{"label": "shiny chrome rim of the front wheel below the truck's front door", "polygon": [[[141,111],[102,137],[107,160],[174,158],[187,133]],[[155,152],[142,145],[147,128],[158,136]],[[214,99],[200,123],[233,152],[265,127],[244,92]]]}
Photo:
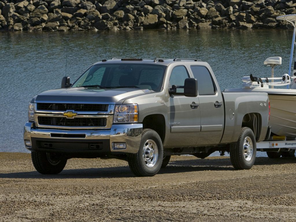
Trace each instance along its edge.
{"label": "shiny chrome rim of the front wheel below the truck's front door", "polygon": [[143,147],[143,160],[147,167],[153,167],[158,159],[158,148],[154,140],[148,139]]}

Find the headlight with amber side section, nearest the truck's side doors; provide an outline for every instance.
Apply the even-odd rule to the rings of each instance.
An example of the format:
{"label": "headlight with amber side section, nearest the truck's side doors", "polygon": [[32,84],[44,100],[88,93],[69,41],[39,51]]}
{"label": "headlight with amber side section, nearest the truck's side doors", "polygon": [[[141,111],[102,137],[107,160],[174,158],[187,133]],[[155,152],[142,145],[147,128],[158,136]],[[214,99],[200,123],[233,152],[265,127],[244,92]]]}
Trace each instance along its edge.
{"label": "headlight with amber side section, nearest the truck's side doors", "polygon": [[136,123],[138,118],[138,104],[115,106],[114,123]]}

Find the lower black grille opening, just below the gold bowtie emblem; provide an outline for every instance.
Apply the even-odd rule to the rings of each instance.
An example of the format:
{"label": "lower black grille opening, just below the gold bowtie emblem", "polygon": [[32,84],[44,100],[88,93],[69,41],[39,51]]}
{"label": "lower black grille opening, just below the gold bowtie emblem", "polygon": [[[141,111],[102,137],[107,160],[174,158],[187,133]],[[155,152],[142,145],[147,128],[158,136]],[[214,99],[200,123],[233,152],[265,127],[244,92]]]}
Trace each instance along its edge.
{"label": "lower black grille opening, just below the gold bowtie emblem", "polygon": [[38,116],[38,123],[47,126],[106,126],[107,118],[66,118]]}

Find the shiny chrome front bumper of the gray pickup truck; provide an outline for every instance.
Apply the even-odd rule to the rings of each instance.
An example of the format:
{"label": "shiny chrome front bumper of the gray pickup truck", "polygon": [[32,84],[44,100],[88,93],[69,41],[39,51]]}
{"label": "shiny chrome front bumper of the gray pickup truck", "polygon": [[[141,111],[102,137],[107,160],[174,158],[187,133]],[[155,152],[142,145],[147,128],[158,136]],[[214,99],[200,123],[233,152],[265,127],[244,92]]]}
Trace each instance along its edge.
{"label": "shiny chrome front bumper of the gray pickup truck", "polygon": [[[39,129],[34,128],[34,123],[26,122],[24,126],[24,141],[28,140],[31,146],[25,147],[29,150],[36,150],[38,147],[32,142],[38,139],[39,141],[61,140],[63,142],[73,143],[75,141],[99,141],[109,140],[109,149],[105,147],[104,150],[122,153],[137,153],[141,142],[141,132],[143,125],[141,123],[135,124],[113,124],[109,130],[57,130],[57,129]],[[77,137],[75,137],[77,135]],[[85,137],[81,137],[85,135]],[[126,149],[114,149],[112,144],[114,142],[126,143]],[[79,144],[79,143],[77,143]],[[78,145],[76,145],[78,146]],[[77,150],[77,149],[76,149]],[[74,150],[73,150],[74,151]]]}

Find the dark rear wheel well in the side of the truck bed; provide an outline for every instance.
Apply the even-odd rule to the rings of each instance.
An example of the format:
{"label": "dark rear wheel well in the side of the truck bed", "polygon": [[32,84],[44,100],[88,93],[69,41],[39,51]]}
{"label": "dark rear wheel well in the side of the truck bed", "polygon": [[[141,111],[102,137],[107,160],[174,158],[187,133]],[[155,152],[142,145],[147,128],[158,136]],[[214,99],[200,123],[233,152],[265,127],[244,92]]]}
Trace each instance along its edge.
{"label": "dark rear wheel well in the side of the truck bed", "polygon": [[242,127],[249,127],[258,141],[262,128],[262,118],[259,113],[247,113],[242,120]]}

